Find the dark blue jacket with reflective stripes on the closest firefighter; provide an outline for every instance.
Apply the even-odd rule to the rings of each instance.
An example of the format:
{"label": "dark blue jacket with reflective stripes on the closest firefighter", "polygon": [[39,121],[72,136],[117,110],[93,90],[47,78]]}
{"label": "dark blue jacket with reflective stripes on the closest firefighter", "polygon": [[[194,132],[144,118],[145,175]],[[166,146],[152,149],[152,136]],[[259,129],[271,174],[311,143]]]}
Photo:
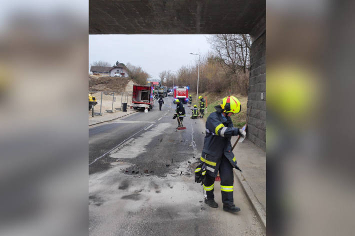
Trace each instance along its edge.
{"label": "dark blue jacket with reflective stripes on the closest firefighter", "polygon": [[[236,159],[231,151],[230,143],[231,136],[238,135],[239,129],[233,127],[230,117],[225,117],[226,121],[223,120],[220,105],[215,106],[214,109],[216,111],[212,112],[206,120],[206,136],[204,137],[200,160],[212,169],[218,170],[220,159],[224,155],[234,168],[240,170],[236,165]],[[216,173],[217,171],[215,171]]]}

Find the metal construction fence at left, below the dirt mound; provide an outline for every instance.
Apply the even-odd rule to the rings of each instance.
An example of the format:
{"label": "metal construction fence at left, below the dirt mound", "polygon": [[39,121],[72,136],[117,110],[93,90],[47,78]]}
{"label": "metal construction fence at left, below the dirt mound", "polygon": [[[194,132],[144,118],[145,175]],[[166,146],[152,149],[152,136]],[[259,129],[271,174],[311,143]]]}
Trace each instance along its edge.
{"label": "metal construction fence at left, below the dirt mound", "polygon": [[88,91],[88,93],[94,96],[97,101],[93,111],[89,110],[89,116],[121,111],[123,103],[126,103],[128,108],[132,101],[132,92]]}

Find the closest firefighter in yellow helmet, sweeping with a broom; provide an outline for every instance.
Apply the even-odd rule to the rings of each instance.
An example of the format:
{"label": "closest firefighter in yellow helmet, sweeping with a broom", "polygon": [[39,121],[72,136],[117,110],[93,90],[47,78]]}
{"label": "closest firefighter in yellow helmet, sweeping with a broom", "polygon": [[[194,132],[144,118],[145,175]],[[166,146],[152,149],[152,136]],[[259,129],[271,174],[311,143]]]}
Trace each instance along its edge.
{"label": "closest firefighter in yellow helmet, sweeping with a broom", "polygon": [[195,182],[203,184],[204,203],[209,207],[217,208],[214,201],[214,180],[219,171],[220,190],[222,195],[223,211],[238,212],[240,209],[233,202],[233,168],[240,171],[236,159],[231,151],[231,136],[245,137],[242,129],[233,127],[230,119],[240,112],[240,102],[234,96],[223,98],[222,104],[214,107],[206,120],[206,136],[200,164],[195,170]]}

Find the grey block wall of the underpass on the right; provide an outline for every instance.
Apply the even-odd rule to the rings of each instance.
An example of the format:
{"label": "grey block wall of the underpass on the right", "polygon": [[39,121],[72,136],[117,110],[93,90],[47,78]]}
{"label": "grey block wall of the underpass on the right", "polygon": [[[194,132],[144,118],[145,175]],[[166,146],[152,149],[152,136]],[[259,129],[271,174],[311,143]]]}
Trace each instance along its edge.
{"label": "grey block wall of the underpass on the right", "polygon": [[254,39],[250,51],[249,89],[247,101],[247,138],[266,150],[266,32]]}

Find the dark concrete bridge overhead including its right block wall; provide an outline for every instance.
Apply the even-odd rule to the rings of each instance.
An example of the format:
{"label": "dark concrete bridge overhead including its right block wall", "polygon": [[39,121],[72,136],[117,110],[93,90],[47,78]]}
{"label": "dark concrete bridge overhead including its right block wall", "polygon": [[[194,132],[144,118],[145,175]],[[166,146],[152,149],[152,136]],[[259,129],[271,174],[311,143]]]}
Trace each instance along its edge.
{"label": "dark concrete bridge overhead including its right block wall", "polygon": [[251,36],[248,138],[265,150],[265,0],[89,1],[89,34],[218,33]]}

